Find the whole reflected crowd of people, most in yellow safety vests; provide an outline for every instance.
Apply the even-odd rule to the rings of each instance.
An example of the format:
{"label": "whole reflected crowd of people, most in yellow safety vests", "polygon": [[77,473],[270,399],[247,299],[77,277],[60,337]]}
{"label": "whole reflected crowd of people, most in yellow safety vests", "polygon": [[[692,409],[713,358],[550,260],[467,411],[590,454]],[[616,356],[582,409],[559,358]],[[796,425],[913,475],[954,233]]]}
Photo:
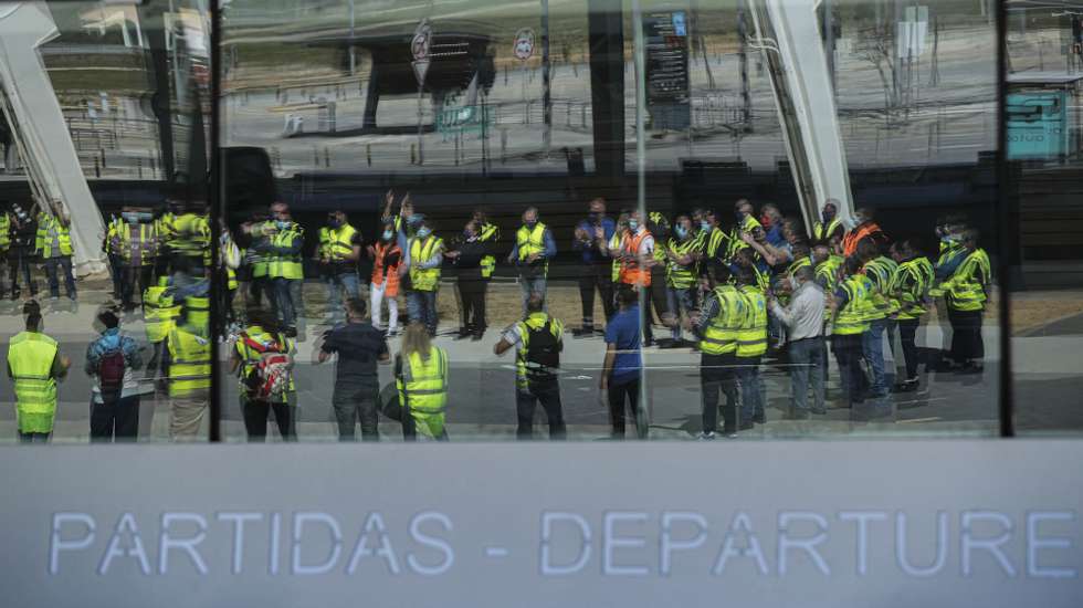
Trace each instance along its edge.
{"label": "whole reflected crowd of people, most in yellow safety vests", "polygon": [[[30,300],[25,331],[9,343],[8,371],[14,385],[20,437],[48,440],[53,430],[56,382],[71,361],[45,335],[31,268],[42,264],[50,295],[76,300],[70,220],[59,201],[30,210],[7,206],[0,213],[0,249],[9,263],[6,293]],[[643,347],[700,352],[701,439],[736,436],[767,421],[760,371],[766,360],[787,363],[792,399],[787,418],[827,412],[829,347],[842,388],[841,407],[854,418],[891,413],[892,391],[922,390],[919,365],[961,374],[981,371],[982,312],[991,281],[978,232],[965,217],[946,216],[936,228],[935,258],[915,240],[892,240],[872,209],[853,222],[839,217],[837,201],[806,229],[775,205],[757,213],[747,200],[726,222],[717,209],[694,209],[667,218],[660,212],[607,213],[606,201],[589,202],[572,229],[572,254],[582,315],[569,327],[548,311],[549,266],[557,238],[528,208],[509,250],[498,250],[500,228],[475,210],[453,238],[444,240],[418,212],[410,196],[388,192],[372,243],[343,211],[328,213],[318,230],[312,262],[327,285],[328,331],[314,345],[315,364],[337,359],[333,406],[341,439],[379,438],[380,413],[402,423],[408,439],[448,438],[449,355],[433,339],[441,274],[455,272],[459,329],[455,339],[483,339],[486,298],[497,260],[514,268],[522,292],[522,318],[500,334],[497,356],[515,349],[517,437],[534,436],[542,406],[551,439],[567,434],[560,400],[564,337],[603,335],[598,388],[607,395],[612,437],[622,438],[630,418],[639,438],[649,433],[641,398]],[[728,228],[724,228],[728,223]],[[170,434],[199,436],[210,403],[212,345],[222,339],[230,370],[239,379],[243,421],[250,440],[267,436],[274,416],[284,440],[294,440],[297,342],[307,339],[302,285],[305,230],[283,202],[230,229],[220,226],[219,254],[204,205],[171,196],[168,211],[126,207],[107,223],[115,302],[95,314],[99,336],[87,347],[85,373],[93,378],[93,440],[134,439],[139,397],[160,385],[170,405]],[[506,247],[506,245],[505,245]],[[508,251],[504,255],[504,251]],[[371,274],[362,287],[362,259]],[[20,285],[20,275],[22,285]],[[218,282],[223,318],[211,329],[211,283]],[[246,291],[243,310],[234,296]],[[362,297],[367,289],[368,296]],[[403,318],[398,300],[407,303]],[[596,317],[596,296],[604,318]],[[929,310],[947,319],[949,344],[918,344]],[[383,310],[387,308],[387,316]],[[149,357],[120,325],[141,312]],[[655,321],[656,317],[656,321]],[[386,321],[385,321],[386,318]],[[663,328],[661,335],[655,332]],[[948,326],[946,326],[946,329]],[[667,335],[666,335],[667,334]],[[905,377],[894,381],[895,335]],[[401,336],[391,355],[388,338]],[[138,342],[143,342],[141,338]],[[144,360],[146,359],[146,360]],[[393,366],[395,382],[381,390],[378,366]],[[811,399],[810,399],[811,396]],[[718,413],[722,424],[718,424]]]}

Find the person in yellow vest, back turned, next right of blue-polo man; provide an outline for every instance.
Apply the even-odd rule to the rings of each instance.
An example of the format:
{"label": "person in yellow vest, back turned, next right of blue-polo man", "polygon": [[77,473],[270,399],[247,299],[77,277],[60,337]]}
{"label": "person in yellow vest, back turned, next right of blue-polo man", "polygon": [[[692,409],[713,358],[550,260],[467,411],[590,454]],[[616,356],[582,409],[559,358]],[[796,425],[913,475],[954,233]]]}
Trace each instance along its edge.
{"label": "person in yellow vest, back turned, next right of blue-polo man", "polygon": [[[742,427],[737,419],[737,332],[745,321],[746,301],[729,282],[729,268],[718,260],[707,261],[701,274],[706,293],[700,313],[686,327],[700,339],[700,392],[703,399],[703,427],[698,439],[715,438],[718,428],[718,397],[725,395],[722,409],[723,433],[736,437]],[[745,429],[751,428],[745,426]]]}

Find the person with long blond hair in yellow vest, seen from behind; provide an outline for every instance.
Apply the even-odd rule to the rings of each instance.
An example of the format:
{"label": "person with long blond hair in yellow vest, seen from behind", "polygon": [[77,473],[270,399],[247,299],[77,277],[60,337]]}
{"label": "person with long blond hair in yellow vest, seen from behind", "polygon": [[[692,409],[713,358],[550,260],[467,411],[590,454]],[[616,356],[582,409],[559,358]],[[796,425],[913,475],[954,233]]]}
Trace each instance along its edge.
{"label": "person with long blond hair in yellow vest, seen from behind", "polygon": [[424,325],[411,318],[402,334],[402,349],[395,356],[398,408],[393,409],[400,411],[403,439],[448,440],[448,353],[433,346]]}

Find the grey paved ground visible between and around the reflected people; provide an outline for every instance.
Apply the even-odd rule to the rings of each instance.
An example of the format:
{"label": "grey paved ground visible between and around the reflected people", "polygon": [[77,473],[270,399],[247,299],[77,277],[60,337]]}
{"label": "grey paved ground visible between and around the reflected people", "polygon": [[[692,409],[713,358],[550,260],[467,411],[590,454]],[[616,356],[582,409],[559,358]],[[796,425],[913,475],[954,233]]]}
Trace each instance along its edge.
{"label": "grey paved ground visible between and around the reflected people", "polygon": [[[318,285],[309,284],[318,290]],[[56,337],[73,360],[70,377],[61,385],[61,403],[57,416],[57,441],[85,441],[87,437],[90,381],[82,371],[88,340],[91,317],[97,304],[105,300],[101,292],[84,290],[85,301],[73,307],[61,300],[46,303],[46,332]],[[312,306],[309,307],[312,311]],[[0,305],[0,338],[7,340],[18,329],[18,308],[14,304]],[[297,388],[301,424],[299,436],[306,441],[333,440],[336,428],[330,407],[334,384],[334,365],[316,366],[311,361],[312,339],[322,326],[312,319],[307,337],[299,345],[297,356]],[[454,324],[442,324],[441,331],[453,329]],[[141,322],[133,318],[126,329],[135,336],[143,335]],[[926,340],[938,339],[939,329],[927,327]],[[851,422],[848,409],[831,409],[827,416],[808,422],[781,420],[781,408],[789,398],[789,379],[782,361],[769,361],[764,368],[768,394],[766,426],[743,433],[743,438],[826,438],[839,436],[990,436],[998,431],[996,363],[996,327],[987,327],[987,369],[981,376],[933,374],[924,379],[927,391],[893,402],[891,417],[875,423]],[[509,440],[515,433],[515,407],[513,400],[512,354],[496,357],[492,344],[497,339],[490,332],[481,343],[456,342],[448,336],[438,337],[438,344],[448,349],[451,361],[451,406],[449,408],[450,433],[458,440],[486,439]],[[596,440],[608,437],[608,410],[599,401],[597,380],[601,365],[603,343],[600,338],[576,339],[567,336],[562,357],[561,396],[569,423],[569,434],[575,439]],[[1030,427],[1055,429],[1083,429],[1083,417],[1071,406],[1075,392],[1061,392],[1074,387],[1073,374],[1077,364],[1072,354],[1077,353],[1080,339],[1064,337],[1031,337],[1013,340],[1017,381],[1020,395],[1028,395],[1020,405],[1020,422]],[[392,342],[392,350],[398,345]],[[700,387],[697,375],[698,355],[691,349],[646,349],[645,386],[651,403],[652,439],[691,439],[700,431]],[[1073,367],[1074,366],[1074,367]],[[838,397],[837,370],[830,369],[829,397]],[[381,382],[390,381],[389,368],[381,369]],[[244,437],[235,384],[227,382],[224,399],[224,432],[231,440]],[[155,396],[147,384],[144,399],[141,439],[162,441],[168,439],[168,403]],[[1074,390],[1074,389],[1072,389]],[[1041,401],[1032,401],[1040,398]],[[11,385],[0,381],[0,440],[14,436],[14,416]],[[537,432],[544,436],[540,411],[536,416]],[[395,422],[383,420],[383,433],[398,439]]]}

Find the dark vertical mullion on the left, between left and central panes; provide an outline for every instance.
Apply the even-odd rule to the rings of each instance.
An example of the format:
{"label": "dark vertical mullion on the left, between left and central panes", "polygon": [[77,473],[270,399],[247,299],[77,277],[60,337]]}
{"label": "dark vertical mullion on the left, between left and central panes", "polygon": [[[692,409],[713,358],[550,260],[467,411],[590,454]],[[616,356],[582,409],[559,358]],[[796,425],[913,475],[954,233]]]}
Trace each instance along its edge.
{"label": "dark vertical mullion on the left, between left and central panes", "polygon": [[[221,263],[221,248],[219,247],[221,230],[219,229],[220,219],[225,217],[224,209],[222,206],[224,201],[222,200],[222,156],[219,149],[219,135],[221,133],[221,112],[219,111],[219,99],[222,93],[222,76],[221,76],[221,61],[220,61],[220,45],[222,38],[222,19],[221,19],[221,7],[219,6],[219,0],[210,0],[210,12],[211,12],[211,50],[210,50],[210,73],[211,73],[211,175],[210,175],[210,224],[211,224],[211,424],[210,424],[210,440],[212,443],[220,442],[222,440],[222,369],[221,361],[219,361],[219,342],[218,336],[222,335],[222,318],[221,314],[221,286],[222,282],[219,277],[218,269]],[[199,108],[198,112],[202,112]]]}

